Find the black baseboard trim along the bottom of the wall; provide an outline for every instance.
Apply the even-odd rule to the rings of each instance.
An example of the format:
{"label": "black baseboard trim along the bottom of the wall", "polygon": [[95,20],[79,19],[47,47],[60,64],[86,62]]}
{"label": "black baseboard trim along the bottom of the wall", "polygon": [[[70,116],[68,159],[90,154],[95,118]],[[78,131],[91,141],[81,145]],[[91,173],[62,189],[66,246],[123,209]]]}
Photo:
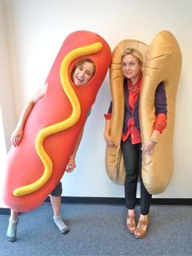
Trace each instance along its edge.
{"label": "black baseboard trim along the bottom of the wall", "polygon": [[[50,202],[49,197],[45,202]],[[65,204],[114,204],[124,205],[124,198],[119,197],[81,197],[62,196],[61,202]],[[140,198],[136,199],[136,204],[140,204]],[[153,198],[151,205],[192,205],[191,198]],[[10,209],[0,208],[0,215],[9,215]]]}

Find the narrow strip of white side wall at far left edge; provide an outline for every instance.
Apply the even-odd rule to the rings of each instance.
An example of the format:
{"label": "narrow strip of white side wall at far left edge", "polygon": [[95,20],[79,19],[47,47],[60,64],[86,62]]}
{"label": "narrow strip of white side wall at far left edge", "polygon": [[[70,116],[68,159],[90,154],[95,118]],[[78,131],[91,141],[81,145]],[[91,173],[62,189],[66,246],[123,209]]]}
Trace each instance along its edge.
{"label": "narrow strip of white side wall at far left edge", "polygon": [[[7,148],[11,146],[10,134],[16,124],[5,9],[2,0],[0,0],[0,31],[0,187],[2,187],[2,175],[6,168]],[[0,197],[0,207],[4,206]]]}

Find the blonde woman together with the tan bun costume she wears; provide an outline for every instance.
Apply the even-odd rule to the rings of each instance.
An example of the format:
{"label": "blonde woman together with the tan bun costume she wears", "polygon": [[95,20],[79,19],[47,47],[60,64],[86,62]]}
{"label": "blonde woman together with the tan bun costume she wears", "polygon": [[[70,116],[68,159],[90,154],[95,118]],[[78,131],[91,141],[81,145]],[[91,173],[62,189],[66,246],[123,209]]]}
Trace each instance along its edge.
{"label": "blonde woman together with the tan bun costume she wears", "polygon": [[[174,74],[172,65],[176,79],[170,77]],[[167,174],[167,181],[164,174],[172,166],[163,167],[162,160],[166,162],[168,155],[170,163],[172,158],[172,114],[180,72],[181,52],[175,38],[167,31],[158,34],[149,48],[140,41],[124,40],[113,52],[110,67],[113,106],[110,105],[105,115],[106,168],[114,182],[124,183],[127,229],[136,238],[146,234],[151,195],[163,191],[170,180],[171,175]],[[164,144],[168,151],[165,149],[167,155],[164,155],[163,145],[160,145],[165,142],[163,137],[168,136]],[[139,176],[141,215],[136,225]]]}

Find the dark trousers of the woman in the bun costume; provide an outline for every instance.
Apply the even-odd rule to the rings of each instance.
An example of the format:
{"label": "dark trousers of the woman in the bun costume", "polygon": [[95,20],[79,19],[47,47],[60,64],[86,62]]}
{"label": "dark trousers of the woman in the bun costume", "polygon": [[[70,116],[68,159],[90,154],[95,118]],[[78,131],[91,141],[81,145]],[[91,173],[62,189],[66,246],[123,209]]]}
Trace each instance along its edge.
{"label": "dark trousers of the woman in the bun costume", "polygon": [[126,169],[125,178],[125,205],[127,209],[134,209],[136,205],[136,187],[138,177],[141,182],[141,214],[145,215],[150,210],[152,195],[145,189],[141,177],[142,151],[141,143],[132,145],[131,137],[122,141],[123,159]]}

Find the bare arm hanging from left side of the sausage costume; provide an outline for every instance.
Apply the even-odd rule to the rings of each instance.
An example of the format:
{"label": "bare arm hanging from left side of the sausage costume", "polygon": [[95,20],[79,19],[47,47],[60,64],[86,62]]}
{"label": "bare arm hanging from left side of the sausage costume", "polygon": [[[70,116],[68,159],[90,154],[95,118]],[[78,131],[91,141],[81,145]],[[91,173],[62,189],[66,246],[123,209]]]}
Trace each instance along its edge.
{"label": "bare arm hanging from left side of the sausage costume", "polygon": [[35,95],[29,100],[27,105],[24,107],[24,109],[21,112],[20,119],[16,125],[15,130],[11,134],[11,142],[14,146],[18,146],[20,144],[20,141],[23,137],[23,130],[25,122],[33,109],[33,106],[38,102],[40,98],[42,98],[47,91],[47,83],[45,83],[42,88],[38,90],[38,92],[35,93]]}

